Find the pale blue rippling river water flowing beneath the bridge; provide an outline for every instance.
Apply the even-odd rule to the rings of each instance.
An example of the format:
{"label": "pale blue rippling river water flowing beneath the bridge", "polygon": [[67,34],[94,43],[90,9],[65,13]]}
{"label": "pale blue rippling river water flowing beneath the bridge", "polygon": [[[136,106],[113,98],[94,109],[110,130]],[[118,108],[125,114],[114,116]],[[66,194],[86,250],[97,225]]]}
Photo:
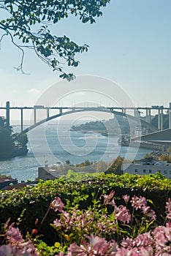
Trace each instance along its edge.
{"label": "pale blue rippling river water flowing beneath the bridge", "polygon": [[[13,127],[19,131],[19,126]],[[118,137],[107,138],[100,134],[70,131],[69,124],[46,124],[28,134],[28,154],[0,161],[0,174],[12,176],[18,181],[34,180],[40,165],[65,162],[72,164],[104,160],[111,162],[120,155],[127,159],[140,159],[150,150],[118,146]]]}

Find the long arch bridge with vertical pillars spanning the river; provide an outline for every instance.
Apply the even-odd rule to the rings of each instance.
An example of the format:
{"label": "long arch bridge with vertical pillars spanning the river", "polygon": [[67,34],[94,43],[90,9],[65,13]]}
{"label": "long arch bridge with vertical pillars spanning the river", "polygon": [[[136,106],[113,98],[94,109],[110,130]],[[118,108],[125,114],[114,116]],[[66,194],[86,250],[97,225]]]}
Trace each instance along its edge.
{"label": "long arch bridge with vertical pillars spanning the river", "polygon": [[[98,111],[98,112],[105,112],[105,113],[113,113],[114,115],[118,116],[125,116],[126,118],[130,118],[134,121],[138,120],[140,118],[141,124],[143,127],[147,127],[151,130],[151,132],[157,132],[159,130],[163,129],[163,115],[164,110],[167,110],[167,113],[169,114],[169,128],[171,128],[171,103],[169,108],[164,108],[163,106],[152,106],[152,107],[91,107],[91,108],[80,108],[80,107],[45,107],[44,105],[34,105],[33,107],[11,107],[9,102],[6,102],[6,107],[0,107],[0,110],[4,109],[6,111],[6,119],[7,124],[10,124],[10,111],[11,110],[19,110],[20,111],[20,132],[28,132],[31,129],[34,129],[35,127],[38,127],[41,124],[44,124],[47,121],[53,120],[55,118],[58,118],[60,116],[69,115],[71,113],[79,113],[79,112],[85,112],[85,111]],[[34,124],[30,127],[23,129],[23,113],[25,110],[32,110],[33,111],[33,117],[34,117]],[[45,110],[46,111],[46,118],[42,119],[41,121],[37,121],[37,111],[38,110]],[[58,113],[50,116],[50,110],[57,110]],[[128,113],[128,110],[132,110],[133,115],[130,115]],[[142,110],[145,111],[146,116],[145,118],[141,116]],[[158,113],[158,129],[156,127],[153,127],[151,123],[151,111],[156,110]]]}

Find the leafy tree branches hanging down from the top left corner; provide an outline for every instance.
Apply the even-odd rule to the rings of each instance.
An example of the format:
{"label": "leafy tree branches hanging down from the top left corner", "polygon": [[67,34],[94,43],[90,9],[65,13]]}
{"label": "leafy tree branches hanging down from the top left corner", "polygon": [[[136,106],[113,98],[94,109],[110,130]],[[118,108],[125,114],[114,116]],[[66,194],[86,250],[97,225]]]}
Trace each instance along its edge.
{"label": "leafy tree branches hanging down from the top left corner", "polygon": [[[65,35],[57,37],[51,34],[49,25],[69,15],[79,16],[83,23],[94,23],[102,15],[101,7],[110,0],[0,0],[0,10],[5,17],[0,20],[0,29],[9,36],[12,43],[22,51],[18,70],[23,71],[24,48],[35,51],[47,65],[61,72],[61,78],[72,79],[73,74],[66,74],[61,61],[68,66],[77,67],[76,53],[88,50],[88,45],[77,45]],[[38,26],[37,26],[38,25]],[[39,29],[37,30],[37,28]]]}

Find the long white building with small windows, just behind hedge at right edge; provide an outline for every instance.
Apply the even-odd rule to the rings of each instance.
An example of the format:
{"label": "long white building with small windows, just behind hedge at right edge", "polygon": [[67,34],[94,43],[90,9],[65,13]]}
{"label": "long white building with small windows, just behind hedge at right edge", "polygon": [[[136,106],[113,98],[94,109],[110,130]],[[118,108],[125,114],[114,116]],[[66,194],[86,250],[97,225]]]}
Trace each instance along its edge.
{"label": "long white building with small windows, just behind hedge at right edge", "polygon": [[132,164],[123,164],[122,170],[123,173],[139,175],[161,173],[166,178],[171,178],[171,164],[167,161],[157,161],[151,158],[140,159]]}

